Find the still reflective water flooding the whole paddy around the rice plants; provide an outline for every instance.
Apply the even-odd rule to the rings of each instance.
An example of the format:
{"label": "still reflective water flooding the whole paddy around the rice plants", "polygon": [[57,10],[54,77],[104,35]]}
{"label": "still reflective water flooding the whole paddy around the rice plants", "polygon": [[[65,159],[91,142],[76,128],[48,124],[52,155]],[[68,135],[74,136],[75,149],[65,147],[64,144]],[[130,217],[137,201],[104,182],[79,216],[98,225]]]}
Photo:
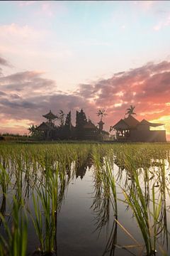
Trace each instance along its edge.
{"label": "still reflective water flooding the whole paddy around the rice plants", "polygon": [[[138,195],[137,179],[132,176],[134,163],[137,169],[139,186],[147,202],[147,216],[149,218],[148,223],[150,223],[148,240],[150,239],[152,244],[156,245],[155,251],[152,251],[150,255],[169,255],[169,159],[167,157],[158,159],[157,157],[146,157],[145,163],[143,163],[143,160],[140,161],[141,156],[141,158],[137,159],[136,157],[132,162],[130,161],[130,164],[127,164],[125,156],[123,155],[122,159],[121,157],[118,158],[116,154],[109,154],[109,157],[102,154],[100,157],[100,169],[103,171],[107,171],[107,163],[110,163],[109,166],[115,182],[115,198],[113,197],[113,191],[107,193],[108,188],[110,191],[110,181],[106,180],[106,183],[104,183],[100,177],[98,178],[98,168],[92,154],[86,154],[83,161],[77,158],[70,161],[69,164],[64,162],[62,166],[66,170],[62,179],[64,189],[61,198],[59,195],[60,207],[57,210],[55,223],[56,244],[55,252],[52,255],[149,255],[146,250],[142,227],[137,223],[135,208],[130,207],[130,203],[125,198],[126,193],[129,193],[130,196],[133,191]],[[1,163],[3,164],[3,161]],[[15,165],[10,160],[7,165],[4,164],[4,169],[7,170],[10,176],[10,183],[8,183],[5,204],[4,196],[1,196],[0,210],[8,225],[12,228],[10,215],[13,194],[18,195],[18,189],[20,188],[28,218],[26,255],[42,255],[38,252],[40,240],[33,225],[33,218],[35,218],[33,196],[36,201],[40,184],[44,182],[43,176],[47,175],[48,167],[56,168],[59,161],[52,157],[50,160],[45,159],[45,166],[42,164],[42,159],[34,163],[28,161],[28,159],[17,163]],[[16,171],[18,166],[20,166],[19,172]],[[1,167],[1,171],[4,169]],[[35,189],[35,183],[38,184],[37,190]],[[2,185],[3,183],[1,183],[1,190],[3,191]],[[106,190],[103,188],[104,186],[106,186]],[[45,190],[45,187],[43,189]],[[111,198],[114,198],[115,201]],[[135,199],[131,198],[130,200],[134,202]],[[140,201],[139,195],[136,196],[136,200]],[[45,212],[42,209],[42,202],[39,203],[42,223],[44,223]],[[50,210],[50,218],[52,217],[51,214]],[[157,219],[155,216],[157,216]],[[0,231],[1,235],[6,238],[3,223],[0,223]],[[45,234],[44,227],[42,233]],[[6,254],[4,253],[4,255]]]}

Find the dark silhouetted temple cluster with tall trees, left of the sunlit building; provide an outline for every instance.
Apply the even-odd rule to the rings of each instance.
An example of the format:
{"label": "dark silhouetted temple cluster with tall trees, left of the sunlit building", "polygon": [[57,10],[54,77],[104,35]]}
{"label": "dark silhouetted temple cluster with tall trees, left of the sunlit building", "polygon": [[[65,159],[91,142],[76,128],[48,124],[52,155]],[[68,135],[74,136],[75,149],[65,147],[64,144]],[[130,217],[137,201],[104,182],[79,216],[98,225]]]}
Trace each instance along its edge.
{"label": "dark silhouetted temple cluster with tall trees, left of the sunlit building", "polygon": [[36,129],[39,132],[40,139],[91,139],[91,140],[103,140],[109,136],[108,132],[103,131],[103,122],[99,122],[97,127],[91,120],[87,121],[86,114],[81,109],[77,111],[76,126],[72,125],[71,112],[67,114],[65,123],[55,125],[55,119],[59,119],[57,115],[53,114],[50,110],[47,114],[43,114],[42,117],[47,119],[46,122],[42,122]]}

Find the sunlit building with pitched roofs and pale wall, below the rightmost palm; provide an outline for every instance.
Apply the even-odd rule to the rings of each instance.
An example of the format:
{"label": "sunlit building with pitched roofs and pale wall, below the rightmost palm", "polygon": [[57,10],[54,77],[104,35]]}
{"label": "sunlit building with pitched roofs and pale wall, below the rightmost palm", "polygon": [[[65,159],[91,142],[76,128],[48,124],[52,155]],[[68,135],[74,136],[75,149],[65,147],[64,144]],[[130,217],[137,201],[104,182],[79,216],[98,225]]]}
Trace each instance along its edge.
{"label": "sunlit building with pitched roofs and pale wall, below the rightmost palm", "polygon": [[148,122],[145,119],[139,122],[135,117],[129,115],[113,125],[113,129],[118,142],[166,142],[166,130],[155,129],[155,127],[163,125]]}

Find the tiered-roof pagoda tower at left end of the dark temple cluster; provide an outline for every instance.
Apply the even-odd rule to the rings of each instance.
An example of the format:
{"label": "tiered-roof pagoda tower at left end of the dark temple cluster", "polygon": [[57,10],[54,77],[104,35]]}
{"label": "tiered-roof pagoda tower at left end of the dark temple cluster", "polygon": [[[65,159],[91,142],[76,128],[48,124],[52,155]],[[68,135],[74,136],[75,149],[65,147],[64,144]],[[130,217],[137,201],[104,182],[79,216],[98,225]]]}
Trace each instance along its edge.
{"label": "tiered-roof pagoda tower at left end of the dark temple cluster", "polygon": [[47,119],[47,122],[42,122],[38,127],[38,131],[42,132],[45,139],[51,139],[55,133],[55,119],[57,119],[57,115],[53,114],[50,110],[47,114],[43,114],[42,117]]}

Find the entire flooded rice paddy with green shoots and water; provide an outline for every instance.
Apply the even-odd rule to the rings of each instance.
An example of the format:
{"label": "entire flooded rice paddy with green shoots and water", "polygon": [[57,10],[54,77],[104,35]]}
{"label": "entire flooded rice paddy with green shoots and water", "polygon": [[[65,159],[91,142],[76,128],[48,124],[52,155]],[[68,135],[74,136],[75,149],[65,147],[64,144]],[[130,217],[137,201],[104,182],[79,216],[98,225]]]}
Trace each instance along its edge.
{"label": "entire flooded rice paddy with green shoots and water", "polygon": [[169,144],[0,144],[0,255],[169,255]]}

